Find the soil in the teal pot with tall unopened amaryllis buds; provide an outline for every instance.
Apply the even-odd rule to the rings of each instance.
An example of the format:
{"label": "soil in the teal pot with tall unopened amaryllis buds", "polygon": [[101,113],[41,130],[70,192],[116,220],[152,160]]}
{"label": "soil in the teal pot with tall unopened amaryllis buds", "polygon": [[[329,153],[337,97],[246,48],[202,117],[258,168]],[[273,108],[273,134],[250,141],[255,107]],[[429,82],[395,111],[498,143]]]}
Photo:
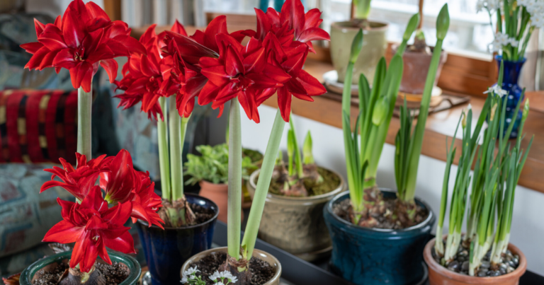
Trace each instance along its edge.
{"label": "soil in the teal pot with tall unopened amaryllis buds", "polygon": [[[373,228],[386,228],[395,230],[407,228],[407,226],[403,226],[400,221],[398,219],[395,219],[394,217],[395,209],[397,209],[396,199],[384,197],[383,202],[385,204],[385,214],[370,214],[370,216],[373,216],[373,218],[378,221],[378,224]],[[345,221],[351,223],[350,213],[352,210],[350,199],[344,199],[339,203],[333,204],[332,211],[341,219],[344,219]],[[422,221],[425,221],[425,219],[427,219],[427,216],[429,216],[429,211],[419,207],[419,205],[416,205],[416,216],[414,219],[414,224],[410,226],[414,226],[421,223]]]}

